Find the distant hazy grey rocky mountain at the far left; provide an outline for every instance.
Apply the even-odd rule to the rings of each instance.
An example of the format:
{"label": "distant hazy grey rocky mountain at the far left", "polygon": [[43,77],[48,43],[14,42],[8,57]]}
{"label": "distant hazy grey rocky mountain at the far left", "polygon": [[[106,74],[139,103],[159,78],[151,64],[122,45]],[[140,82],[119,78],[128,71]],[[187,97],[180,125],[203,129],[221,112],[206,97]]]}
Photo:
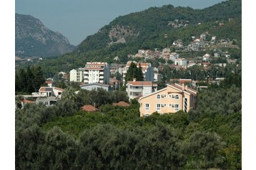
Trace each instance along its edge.
{"label": "distant hazy grey rocky mountain at the far left", "polygon": [[59,56],[74,48],[66,37],[47,29],[39,19],[15,14],[16,56]]}

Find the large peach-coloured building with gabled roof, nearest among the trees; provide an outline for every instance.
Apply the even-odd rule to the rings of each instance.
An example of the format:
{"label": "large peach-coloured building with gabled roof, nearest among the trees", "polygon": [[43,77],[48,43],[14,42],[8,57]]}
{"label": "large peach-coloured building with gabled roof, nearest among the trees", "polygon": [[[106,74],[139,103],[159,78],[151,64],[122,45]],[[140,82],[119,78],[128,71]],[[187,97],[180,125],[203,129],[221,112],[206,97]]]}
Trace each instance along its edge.
{"label": "large peach-coloured building with gabled roof, nearest among the trees", "polygon": [[167,87],[147,96],[139,98],[140,116],[149,116],[154,112],[159,114],[175,113],[197,107],[197,94],[184,84],[167,84]]}

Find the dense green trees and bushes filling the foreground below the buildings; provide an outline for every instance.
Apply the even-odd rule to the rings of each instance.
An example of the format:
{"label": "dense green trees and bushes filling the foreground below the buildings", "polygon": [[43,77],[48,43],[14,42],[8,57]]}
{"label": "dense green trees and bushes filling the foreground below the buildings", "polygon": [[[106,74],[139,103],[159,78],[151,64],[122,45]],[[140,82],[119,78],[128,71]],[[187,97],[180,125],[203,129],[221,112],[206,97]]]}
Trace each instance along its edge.
{"label": "dense green trees and bushes filling the foreground below the buildings", "polygon": [[[16,169],[242,169],[240,80],[210,86],[188,114],[142,118],[139,104],[112,106],[124,96],[104,90],[28,104],[16,109]],[[79,109],[94,102],[98,112]]]}

